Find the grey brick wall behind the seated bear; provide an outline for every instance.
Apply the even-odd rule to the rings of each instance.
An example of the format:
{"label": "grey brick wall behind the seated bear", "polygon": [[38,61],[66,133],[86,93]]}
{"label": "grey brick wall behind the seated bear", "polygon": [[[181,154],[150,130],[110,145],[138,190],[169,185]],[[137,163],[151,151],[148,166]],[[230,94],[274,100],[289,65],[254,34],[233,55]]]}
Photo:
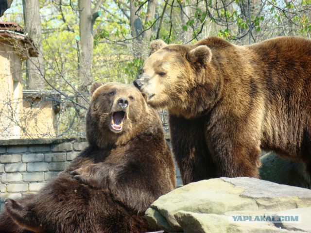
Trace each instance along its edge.
{"label": "grey brick wall behind the seated bear", "polygon": [[[170,145],[169,136],[167,141]],[[37,192],[87,145],[85,138],[0,140],[0,210],[6,198]],[[179,186],[177,166],[176,177]]]}

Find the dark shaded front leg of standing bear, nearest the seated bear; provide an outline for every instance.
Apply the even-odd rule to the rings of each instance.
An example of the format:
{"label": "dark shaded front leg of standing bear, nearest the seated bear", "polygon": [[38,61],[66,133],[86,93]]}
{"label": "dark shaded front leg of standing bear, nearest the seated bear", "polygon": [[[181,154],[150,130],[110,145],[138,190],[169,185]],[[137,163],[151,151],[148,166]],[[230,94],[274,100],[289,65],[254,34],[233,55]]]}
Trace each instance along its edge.
{"label": "dark shaded front leg of standing bear, nearest the seated bear", "polygon": [[216,177],[216,166],[205,140],[206,117],[189,120],[169,116],[173,152],[183,184]]}

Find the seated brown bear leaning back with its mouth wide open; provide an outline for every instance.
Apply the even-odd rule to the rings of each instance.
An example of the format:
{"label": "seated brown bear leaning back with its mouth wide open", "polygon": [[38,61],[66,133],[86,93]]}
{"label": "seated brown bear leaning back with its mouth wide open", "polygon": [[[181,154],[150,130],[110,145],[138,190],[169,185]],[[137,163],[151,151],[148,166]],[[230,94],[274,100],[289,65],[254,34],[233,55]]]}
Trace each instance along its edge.
{"label": "seated brown bear leaning back with its mouth wide open", "polygon": [[89,147],[38,194],[5,200],[0,232],[155,230],[144,212],[175,188],[173,158],[159,117],[133,85],[95,83],[90,92]]}

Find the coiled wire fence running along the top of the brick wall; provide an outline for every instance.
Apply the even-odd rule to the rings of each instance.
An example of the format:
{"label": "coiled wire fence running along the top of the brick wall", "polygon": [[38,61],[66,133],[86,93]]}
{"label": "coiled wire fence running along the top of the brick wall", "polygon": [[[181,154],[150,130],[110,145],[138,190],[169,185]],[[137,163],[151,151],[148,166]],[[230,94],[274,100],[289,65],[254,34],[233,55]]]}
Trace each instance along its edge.
{"label": "coiled wire fence running along the top of the brick wall", "polygon": [[[0,139],[84,137],[86,111],[71,97],[26,96],[0,104]],[[169,132],[168,113],[159,112],[163,129]]]}

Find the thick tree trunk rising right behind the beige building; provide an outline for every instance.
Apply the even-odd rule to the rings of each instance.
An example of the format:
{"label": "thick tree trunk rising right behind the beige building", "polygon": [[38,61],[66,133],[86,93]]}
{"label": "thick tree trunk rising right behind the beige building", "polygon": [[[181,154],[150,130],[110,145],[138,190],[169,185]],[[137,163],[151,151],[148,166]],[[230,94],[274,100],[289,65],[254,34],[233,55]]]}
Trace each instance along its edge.
{"label": "thick tree trunk rising right behind the beige building", "polygon": [[25,33],[33,40],[39,52],[38,57],[27,60],[27,85],[29,89],[43,90],[45,81],[41,21],[39,14],[39,0],[23,0]]}

